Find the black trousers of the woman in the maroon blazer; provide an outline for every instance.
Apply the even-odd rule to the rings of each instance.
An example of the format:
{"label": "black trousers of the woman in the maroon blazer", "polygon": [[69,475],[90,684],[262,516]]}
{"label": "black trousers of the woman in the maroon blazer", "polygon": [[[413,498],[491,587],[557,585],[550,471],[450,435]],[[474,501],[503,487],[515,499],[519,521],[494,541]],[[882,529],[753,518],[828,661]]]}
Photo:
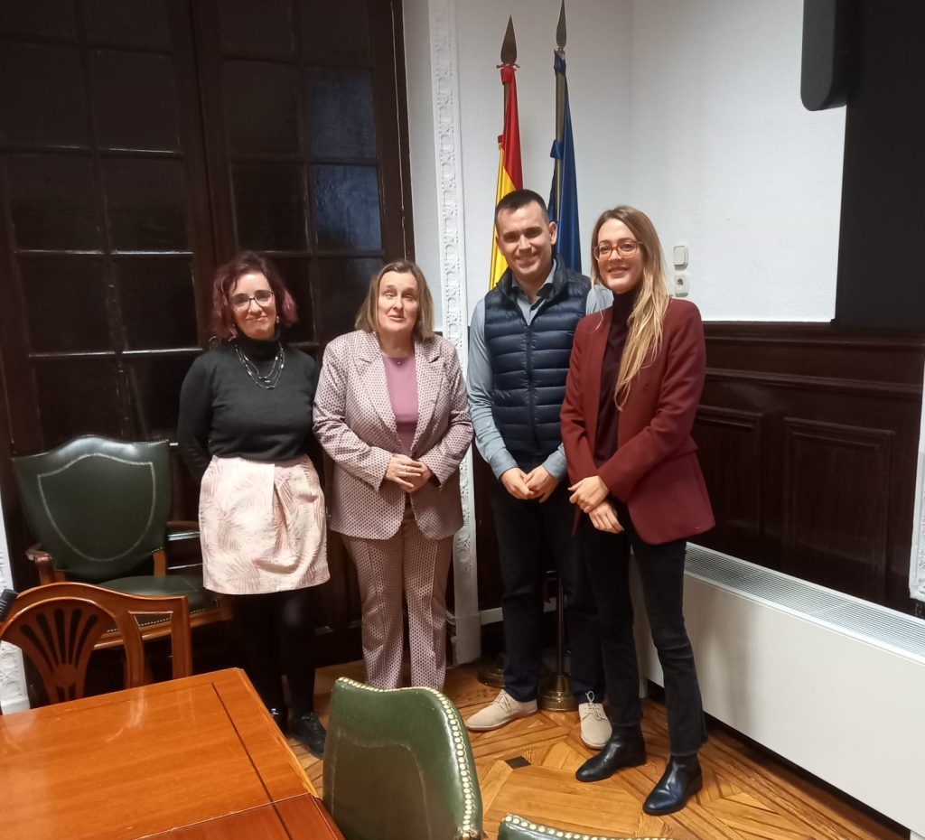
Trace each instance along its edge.
{"label": "black trousers of the woman in the maroon blazer", "polygon": [[[611,500],[611,503],[613,500]],[[642,721],[639,665],[633,636],[629,568],[632,547],[646,599],[652,641],[665,676],[665,705],[672,755],[696,753],[707,741],[694,650],[684,616],[684,539],[649,545],[635,532],[626,507],[617,504],[623,533],[606,534],[582,516],[579,537],[587,573],[598,602],[601,648],[611,722],[633,726]]]}

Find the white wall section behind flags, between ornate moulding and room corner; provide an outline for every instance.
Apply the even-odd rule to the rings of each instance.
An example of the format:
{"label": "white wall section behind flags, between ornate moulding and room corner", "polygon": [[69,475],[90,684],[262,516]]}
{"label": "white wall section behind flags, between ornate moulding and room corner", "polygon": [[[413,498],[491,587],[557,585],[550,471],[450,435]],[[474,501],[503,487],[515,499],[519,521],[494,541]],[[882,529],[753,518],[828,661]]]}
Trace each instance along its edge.
{"label": "white wall section behind flags, between ornate moulding and room corner", "polygon": [[[560,0],[465,0],[456,4],[463,196],[469,308],[487,291],[493,234],[497,139],[503,123],[499,53],[508,16],[517,35],[517,96],[524,187],[549,196],[555,137],[552,70]],[[629,0],[566,4],[565,61],[572,107],[579,225],[587,241],[599,212],[629,188],[632,5]],[[604,108],[601,101],[607,101]],[[587,248],[582,249],[583,252]],[[583,253],[583,262],[588,257]],[[586,266],[585,266],[586,267]]]}

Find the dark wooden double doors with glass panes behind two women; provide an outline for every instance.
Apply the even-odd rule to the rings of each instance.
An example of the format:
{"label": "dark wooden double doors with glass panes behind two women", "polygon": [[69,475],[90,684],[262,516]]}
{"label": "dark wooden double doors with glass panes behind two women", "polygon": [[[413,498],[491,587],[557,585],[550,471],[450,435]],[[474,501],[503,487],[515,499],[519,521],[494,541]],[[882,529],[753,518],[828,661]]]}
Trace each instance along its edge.
{"label": "dark wooden double doors with glass panes behind two women", "polygon": [[[413,256],[400,0],[10,0],[0,13],[0,489],[79,434],[174,436],[211,276],[267,253],[320,361],[382,261]],[[316,463],[320,462],[320,457]],[[174,464],[174,513],[197,488]],[[323,660],[359,652],[339,538]]]}

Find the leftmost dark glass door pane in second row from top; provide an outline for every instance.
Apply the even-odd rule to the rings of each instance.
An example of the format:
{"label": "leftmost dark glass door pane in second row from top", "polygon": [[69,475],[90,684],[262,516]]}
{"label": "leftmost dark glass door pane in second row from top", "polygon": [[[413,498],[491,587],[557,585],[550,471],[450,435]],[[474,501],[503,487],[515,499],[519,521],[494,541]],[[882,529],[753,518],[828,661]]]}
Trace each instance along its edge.
{"label": "leftmost dark glass door pane in second row from top", "polygon": [[23,145],[87,145],[87,97],[76,48],[3,44],[0,139]]}

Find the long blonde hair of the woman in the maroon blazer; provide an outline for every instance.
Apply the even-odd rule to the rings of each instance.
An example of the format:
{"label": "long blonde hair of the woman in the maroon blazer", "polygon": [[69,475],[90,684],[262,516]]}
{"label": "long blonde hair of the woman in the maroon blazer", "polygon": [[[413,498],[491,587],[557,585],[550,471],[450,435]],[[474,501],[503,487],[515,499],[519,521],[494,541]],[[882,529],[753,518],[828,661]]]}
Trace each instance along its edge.
{"label": "long blonde hair of the woman in the maroon blazer", "polygon": [[661,243],[652,220],[641,210],[621,204],[612,210],[605,210],[598,218],[591,234],[591,281],[601,282],[598,260],[594,248],[598,244],[598,233],[605,222],[616,219],[630,229],[642,252],[642,278],[639,280],[633,312],[627,326],[629,333],[623,347],[623,359],[613,398],[623,408],[629,396],[633,379],[661,349],[661,323],[668,308],[668,290],[665,288],[665,270],[661,264]]}

